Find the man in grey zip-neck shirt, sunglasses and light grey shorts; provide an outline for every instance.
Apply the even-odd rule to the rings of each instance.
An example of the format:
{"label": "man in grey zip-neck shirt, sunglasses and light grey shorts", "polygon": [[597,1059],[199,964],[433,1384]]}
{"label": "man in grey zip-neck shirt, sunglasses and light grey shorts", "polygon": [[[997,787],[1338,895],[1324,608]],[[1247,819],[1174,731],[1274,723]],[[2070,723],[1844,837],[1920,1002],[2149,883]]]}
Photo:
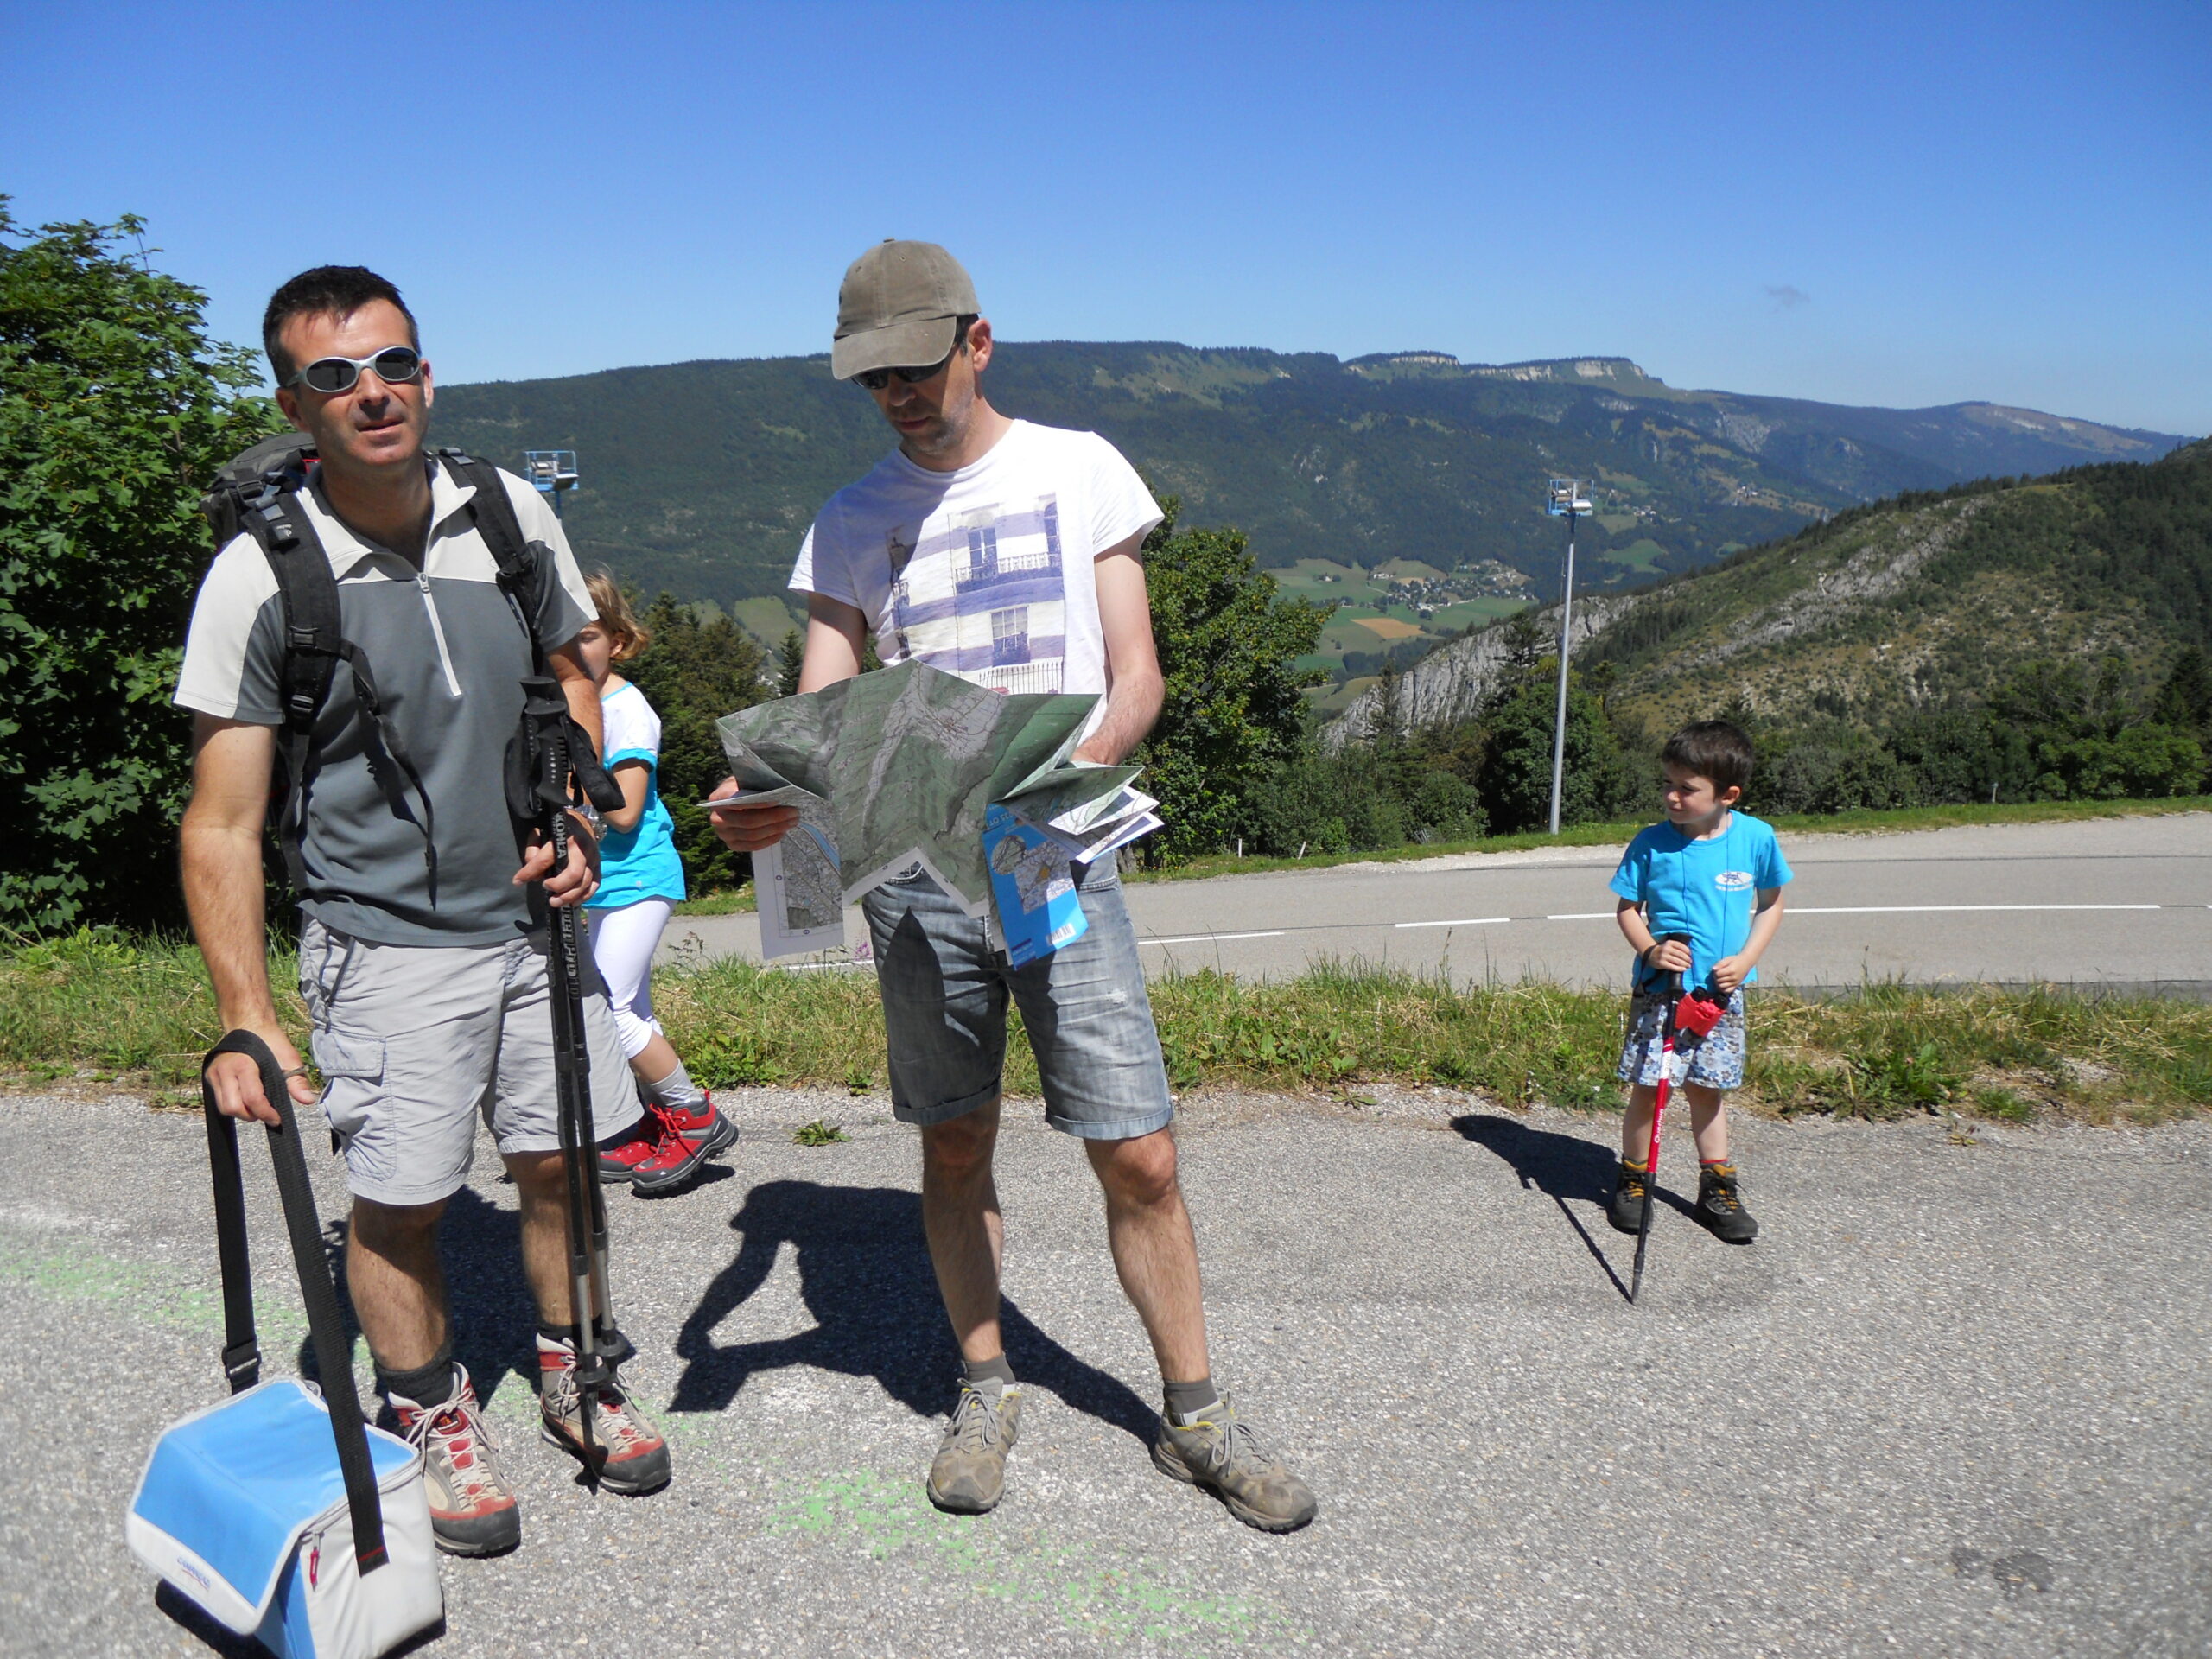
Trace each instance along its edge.
{"label": "man in grey zip-neck shirt, sunglasses and light grey shorts", "polygon": [[[319,458],[290,511],[330,560],[343,637],[372,664],[398,739],[385,743],[387,723],[334,675],[299,812],[299,980],[323,1115],[354,1194],[347,1290],[378,1387],[425,1449],[440,1548],[493,1555],[515,1546],[522,1522],[469,1374],[453,1363],[438,1219],[467,1179],[482,1117],[522,1208],[542,1429],[586,1455],[546,936],[531,927],[526,889],[542,880],[553,905],[582,905],[595,876],[582,836],[564,869],[542,836],[518,869],[502,757],[540,655],[599,739],[597,690],[573,644],[597,608],[560,520],[509,473],[498,484],[551,580],[522,597],[500,586],[469,511],[473,487],[425,453],[431,374],[392,283],[356,265],[303,272],[270,299],[263,343],[276,400]],[[195,712],[184,889],[223,1026],[257,1033],[307,1104],[316,1093],[276,1022],[263,953],[261,827],[285,719],[283,661],[283,595],[259,544],[239,535],[201,584],[177,684],[177,703]],[[637,1093],[595,982],[584,1022],[597,1128],[622,1130],[639,1117]],[[210,1077],[226,1113],[276,1121],[241,1055],[217,1060]],[[668,1449],[622,1387],[599,1394],[593,1444],[599,1484],[668,1484]]]}

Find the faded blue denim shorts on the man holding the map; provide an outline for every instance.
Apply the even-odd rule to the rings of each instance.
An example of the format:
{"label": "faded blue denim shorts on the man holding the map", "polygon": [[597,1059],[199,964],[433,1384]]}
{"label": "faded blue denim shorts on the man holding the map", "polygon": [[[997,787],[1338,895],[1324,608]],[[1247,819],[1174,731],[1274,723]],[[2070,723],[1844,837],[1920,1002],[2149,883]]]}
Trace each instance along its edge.
{"label": "faded blue denim shorts on the man holding the map", "polygon": [[1088,931],[1026,967],[1009,967],[984,940],[984,920],[927,874],[860,900],[876,945],[898,1121],[945,1124],[998,1097],[1011,993],[1037,1055],[1046,1124],[1091,1141],[1168,1126],[1175,1099],[1121,878],[1102,860],[1077,891]]}

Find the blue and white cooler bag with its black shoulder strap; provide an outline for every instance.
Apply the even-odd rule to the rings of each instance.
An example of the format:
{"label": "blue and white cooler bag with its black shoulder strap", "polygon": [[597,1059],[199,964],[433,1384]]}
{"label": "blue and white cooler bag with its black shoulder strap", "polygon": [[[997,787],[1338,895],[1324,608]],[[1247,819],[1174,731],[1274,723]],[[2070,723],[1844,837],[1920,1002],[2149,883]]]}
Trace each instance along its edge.
{"label": "blue and white cooler bag with its black shoulder strap", "polygon": [[330,1398],[296,1378],[259,1380],[237,1126],[215,1108],[201,1066],[232,1394],[155,1442],[124,1535],[179,1595],[276,1659],[376,1659],[445,1617],[422,1453],[361,1416],[276,1060],[243,1031],[223,1037],[208,1062],[226,1053],[254,1060],[283,1119],[270,1128],[270,1152]]}

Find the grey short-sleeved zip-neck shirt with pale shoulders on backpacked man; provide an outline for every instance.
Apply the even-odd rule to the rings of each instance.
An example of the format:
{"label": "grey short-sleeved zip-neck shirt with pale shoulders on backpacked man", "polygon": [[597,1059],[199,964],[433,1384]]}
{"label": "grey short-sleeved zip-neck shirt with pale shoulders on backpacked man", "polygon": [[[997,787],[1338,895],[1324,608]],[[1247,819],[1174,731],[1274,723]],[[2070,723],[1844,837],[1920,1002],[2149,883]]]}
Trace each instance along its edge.
{"label": "grey short-sleeved zip-neck shirt with pale shoulders on backpacked man", "polygon": [[[314,728],[303,810],[301,909],[338,933],[380,945],[495,945],[529,922],[515,830],[507,816],[502,761],[522,719],[531,644],[500,593],[500,566],[460,511],[476,493],[442,467],[431,476],[431,531],[422,568],[354,535],[330,511],[321,482],[303,495],[338,577],[345,637],[376,675],[385,717],[431,799],[438,880],[431,889],[414,787],[400,783],[403,816],[369,770],[372,723],[341,664]],[[522,538],[553,549],[557,582],[544,584],[531,619],[544,648],[575,639],[595,617],[560,520],[520,478],[500,473]],[[208,566],[177,677],[181,708],[219,719],[281,726],[283,599],[268,557],[239,535]],[[385,768],[389,772],[389,768]]]}

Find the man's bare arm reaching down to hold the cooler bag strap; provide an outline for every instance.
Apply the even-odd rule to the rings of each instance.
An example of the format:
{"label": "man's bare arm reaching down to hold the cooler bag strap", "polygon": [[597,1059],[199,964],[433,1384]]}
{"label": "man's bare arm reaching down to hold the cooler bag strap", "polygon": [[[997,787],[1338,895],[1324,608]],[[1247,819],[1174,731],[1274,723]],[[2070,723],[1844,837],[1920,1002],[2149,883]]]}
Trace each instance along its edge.
{"label": "man's bare arm reaching down to hold the cooler bag strap", "polygon": [[[270,770],[276,761],[276,728],[192,719],[192,801],[184,810],[179,847],[184,856],[184,902],[192,916],[192,938],[208,964],[215,1009],[223,1031],[252,1031],[285,1071],[299,1066],[299,1048],[276,1024],[270,998],[268,916],[261,905],[261,823],[268,814]],[[276,1110],[261,1093],[261,1077],[246,1055],[223,1055],[210,1068],[215,1099],[232,1117],[263,1124]],[[292,1077],[292,1099],[307,1104],[314,1091]]]}

